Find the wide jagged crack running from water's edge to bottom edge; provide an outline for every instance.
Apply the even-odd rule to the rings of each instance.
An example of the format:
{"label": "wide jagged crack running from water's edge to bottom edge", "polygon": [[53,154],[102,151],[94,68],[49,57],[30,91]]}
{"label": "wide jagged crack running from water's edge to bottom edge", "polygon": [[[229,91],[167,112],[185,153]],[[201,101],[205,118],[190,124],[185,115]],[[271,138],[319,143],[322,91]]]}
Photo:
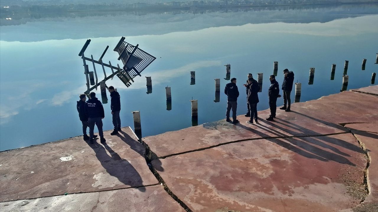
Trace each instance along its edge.
{"label": "wide jagged crack running from water's edge to bottom edge", "polygon": [[[146,159],[146,163],[152,172],[152,174],[156,177],[156,180],[164,187],[164,190],[167,192],[167,194],[172,197],[175,201],[177,201],[178,204],[180,204],[181,207],[183,207],[184,210],[187,212],[193,212],[182,200],[180,200],[167,186],[163,178],[160,176],[160,174],[156,171],[156,169],[153,167],[151,161],[155,160],[152,158],[156,157],[156,154],[151,151],[148,144],[146,144],[142,139],[139,140],[139,142],[144,146],[146,149],[146,154],[144,155],[144,158]],[[154,155],[154,157],[151,157],[151,155]]]}

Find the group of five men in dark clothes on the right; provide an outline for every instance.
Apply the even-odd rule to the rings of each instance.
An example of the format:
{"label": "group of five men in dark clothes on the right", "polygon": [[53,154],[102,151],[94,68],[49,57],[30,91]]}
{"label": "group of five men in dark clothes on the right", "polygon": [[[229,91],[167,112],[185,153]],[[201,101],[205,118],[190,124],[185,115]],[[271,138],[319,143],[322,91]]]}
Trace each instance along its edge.
{"label": "group of five men in dark clothes on the right", "polygon": [[[283,70],[283,74],[283,107],[280,109],[285,110],[286,112],[290,112],[290,94],[291,90],[293,89],[294,73],[292,71],[289,71],[288,69],[285,69]],[[243,86],[245,86],[247,94],[247,113],[245,114],[245,117],[250,117],[247,123],[253,124],[253,120],[255,121],[255,123],[258,123],[257,103],[259,103],[258,92],[260,91],[260,85],[253,78],[253,75],[251,73],[249,73],[247,77],[248,79],[246,81],[246,84],[243,84]],[[273,121],[274,118],[276,118],[277,98],[281,97],[281,95],[279,94],[279,84],[276,81],[276,77],[274,75],[270,75],[269,80],[270,86],[268,89],[268,97],[270,115],[268,118],[266,118],[266,120]],[[239,123],[239,120],[236,119],[237,98],[239,97],[239,90],[236,85],[236,78],[232,78],[231,83],[226,84],[225,94],[227,95],[226,121],[231,121],[230,111],[232,109],[232,123],[237,124]]]}

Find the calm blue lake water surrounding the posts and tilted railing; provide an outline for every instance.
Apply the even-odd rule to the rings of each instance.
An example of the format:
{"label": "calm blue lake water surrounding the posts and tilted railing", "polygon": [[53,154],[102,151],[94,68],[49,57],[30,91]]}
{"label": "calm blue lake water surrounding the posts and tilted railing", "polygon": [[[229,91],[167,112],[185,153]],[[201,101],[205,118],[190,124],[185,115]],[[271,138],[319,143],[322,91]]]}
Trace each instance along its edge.
{"label": "calm blue lake water surrounding the posts and tilted railing", "polygon": [[[274,61],[279,61],[279,84],[285,68],[294,72],[295,82],[302,83],[301,101],[340,92],[345,60],[349,60],[348,89],[369,86],[372,72],[378,71],[374,64],[377,4],[2,19],[0,151],[81,135],[76,101],[86,90],[86,81],[77,54],[90,38],[87,57],[93,54],[98,59],[109,45],[103,61],[122,67],[112,51],[121,36],[156,57],[129,88],[117,77],[107,81],[121,95],[122,126],[133,128],[131,111],[140,111],[143,136],[191,126],[192,98],[198,100],[198,124],[225,118],[223,89],[229,81],[223,78],[228,63],[240,91],[238,115],[246,112],[242,84],[249,72],[256,79],[257,73],[264,73],[257,109],[268,108]],[[365,71],[361,71],[363,58],[367,59]],[[335,80],[330,80],[333,63]],[[89,67],[92,71],[93,66]],[[308,85],[310,67],[315,67],[312,85]],[[103,78],[101,66],[96,68],[99,79]],[[190,71],[196,72],[194,85]],[[152,77],[152,94],[146,94],[146,76]],[[221,79],[220,102],[214,102],[214,78]],[[166,108],[167,85],[172,89],[170,111]],[[96,92],[101,99],[99,90]],[[282,98],[277,101],[280,104]],[[104,108],[104,130],[110,130],[110,103]]]}

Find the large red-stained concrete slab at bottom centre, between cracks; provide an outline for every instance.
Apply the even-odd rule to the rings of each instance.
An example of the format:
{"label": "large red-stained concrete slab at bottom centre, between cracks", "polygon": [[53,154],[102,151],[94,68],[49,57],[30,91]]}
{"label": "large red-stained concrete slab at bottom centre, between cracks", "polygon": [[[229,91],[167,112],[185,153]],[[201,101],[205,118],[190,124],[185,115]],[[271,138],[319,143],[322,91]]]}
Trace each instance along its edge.
{"label": "large red-stained concrete slab at bottom centre, between cracks", "polygon": [[[152,161],[193,211],[338,211],[364,195],[351,134],[241,141]],[[226,210],[227,211],[227,210]]]}

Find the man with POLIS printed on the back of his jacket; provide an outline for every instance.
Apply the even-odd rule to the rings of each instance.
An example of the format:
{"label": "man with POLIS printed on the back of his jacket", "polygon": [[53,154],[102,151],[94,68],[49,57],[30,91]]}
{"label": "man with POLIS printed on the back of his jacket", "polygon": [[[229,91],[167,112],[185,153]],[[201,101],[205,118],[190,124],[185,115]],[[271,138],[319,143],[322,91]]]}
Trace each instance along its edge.
{"label": "man with POLIS printed on the back of his jacket", "polygon": [[98,134],[100,135],[101,143],[105,143],[104,133],[102,132],[102,119],[105,118],[104,107],[101,101],[96,98],[96,93],[91,92],[90,99],[85,102],[85,114],[88,117],[89,124],[89,142],[93,144],[93,130],[95,129],[95,124],[98,129]]}

